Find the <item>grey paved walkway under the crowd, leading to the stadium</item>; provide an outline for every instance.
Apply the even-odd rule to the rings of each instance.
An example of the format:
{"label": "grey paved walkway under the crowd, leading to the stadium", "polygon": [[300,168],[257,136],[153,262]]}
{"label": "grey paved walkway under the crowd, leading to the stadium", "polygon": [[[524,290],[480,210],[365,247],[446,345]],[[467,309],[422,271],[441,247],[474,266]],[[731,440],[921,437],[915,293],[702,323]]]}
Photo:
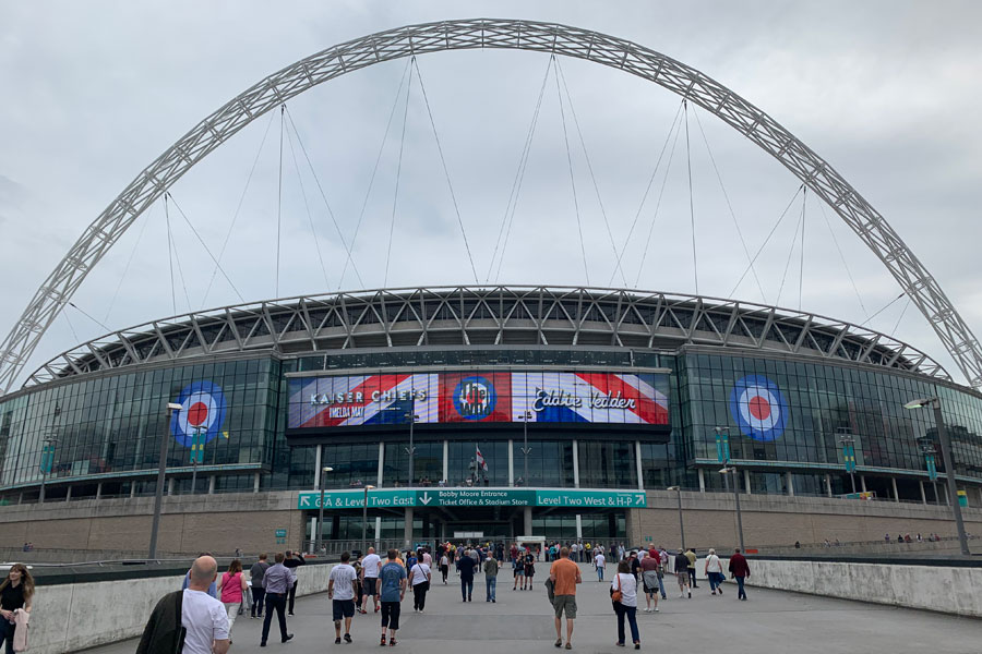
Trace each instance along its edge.
{"label": "grey paved walkway under the crowd, leading to the stadium", "polygon": [[[753,562],[751,562],[753,565]],[[577,592],[579,615],[573,633],[573,650],[582,653],[622,652],[614,646],[616,619],[611,610],[608,583],[584,568]],[[412,611],[411,594],[403,602],[399,644],[388,651],[414,654],[523,654],[558,652],[552,609],[541,581],[548,570],[537,566],[534,591],[512,591],[510,568],[499,577],[498,602],[484,602],[483,576],[475,584],[472,603],[462,603],[459,583],[436,583],[427,597],[427,613]],[[608,574],[611,573],[608,569]],[[674,582],[673,579],[666,581]],[[506,585],[505,585],[506,584]],[[679,598],[678,586],[666,589],[668,600],[660,613],[638,611],[643,651],[762,654],[790,651],[795,654],[977,654],[982,643],[982,620],[958,618],[889,606],[827,600],[780,591],[747,589],[750,601],[738,602],[735,586],[727,584],[722,597],[709,595],[700,582],[692,600]],[[672,592],[675,591],[675,592]],[[642,601],[642,607],[644,603]],[[242,616],[236,621],[231,652],[308,654],[324,652],[378,652],[379,616],[357,615],[352,644],[334,644],[334,627],[326,594],[297,601],[297,615],[289,618],[294,641],[279,643],[274,619],[270,646],[260,649],[262,622]],[[626,627],[626,626],[625,626]],[[628,650],[631,647],[627,632]],[[127,641],[89,650],[123,654],[135,650]]]}

